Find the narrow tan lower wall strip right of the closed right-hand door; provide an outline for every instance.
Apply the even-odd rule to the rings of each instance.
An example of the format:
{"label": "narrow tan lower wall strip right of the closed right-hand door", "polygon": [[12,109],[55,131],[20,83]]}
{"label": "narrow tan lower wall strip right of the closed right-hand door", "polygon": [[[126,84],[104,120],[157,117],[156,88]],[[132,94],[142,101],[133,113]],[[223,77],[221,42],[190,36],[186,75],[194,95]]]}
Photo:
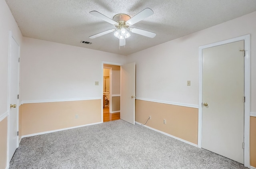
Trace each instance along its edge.
{"label": "narrow tan lower wall strip right of the closed right-hand door", "polygon": [[250,163],[256,167],[256,117],[250,117]]}

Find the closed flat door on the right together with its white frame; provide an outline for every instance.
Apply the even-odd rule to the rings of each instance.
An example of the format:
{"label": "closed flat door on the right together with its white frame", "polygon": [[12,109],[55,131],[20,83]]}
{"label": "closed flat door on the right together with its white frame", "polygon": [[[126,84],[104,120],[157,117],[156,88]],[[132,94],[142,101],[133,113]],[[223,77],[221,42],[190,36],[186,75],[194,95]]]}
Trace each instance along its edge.
{"label": "closed flat door on the right together with its white frame", "polygon": [[[234,49],[231,50],[231,49],[228,49],[228,47],[230,46],[236,46],[236,47],[234,47]],[[214,48],[216,50],[214,50]],[[208,55],[209,53],[207,53],[208,52],[207,50],[209,50],[210,53],[213,51],[216,53],[210,56]],[[250,149],[249,147],[250,53],[249,51],[250,51],[250,35],[245,35],[242,37],[237,37],[234,39],[229,39],[226,41],[199,47],[199,60],[200,60],[199,105],[202,105],[202,106],[199,106],[199,113],[198,113],[198,147],[206,148],[210,151],[213,151],[215,153],[218,153],[220,155],[223,155],[225,157],[228,157],[240,163],[244,163],[246,167],[250,166],[250,158],[249,158],[249,154],[250,154],[250,151],[249,151]],[[225,56],[223,56],[222,53],[224,52],[228,52],[228,53],[233,52],[231,54],[233,57],[236,54],[240,55],[241,57],[240,58],[238,57],[240,60],[237,61],[238,63],[235,63],[236,61],[234,63],[231,63],[234,60],[236,60],[234,58],[231,58],[231,59],[229,58],[230,60],[228,59],[227,61],[225,61],[226,56],[229,54],[225,54]],[[206,58],[207,55],[208,55],[208,58]],[[214,65],[215,61],[218,60],[218,58],[220,58],[220,61],[217,61],[216,62],[217,65]],[[216,60],[211,60],[211,59],[216,59]],[[208,64],[207,62],[210,65],[207,65]],[[229,65],[230,63],[231,65]],[[233,66],[233,65],[236,65],[236,66]],[[207,71],[207,69],[209,69],[210,71]],[[236,71],[240,73],[235,73]],[[215,77],[214,77],[214,74],[216,75]],[[230,79],[228,79],[229,76],[231,77]],[[236,76],[239,76],[240,80],[237,79]],[[211,77],[214,77],[214,78],[211,79]],[[237,86],[240,86],[238,87],[240,89],[236,88]],[[232,92],[226,93],[229,90],[232,92],[238,92],[235,94],[237,98],[235,98],[235,96],[232,96]],[[223,93],[224,95],[222,95]],[[214,100],[215,95],[218,95],[216,96],[216,100]],[[240,95],[242,96],[240,97]],[[210,103],[208,102],[208,100],[210,101]],[[238,103],[236,103],[237,102],[236,100],[240,102],[239,103],[240,106],[238,106],[238,108],[236,108],[236,106],[238,105]],[[232,110],[232,108],[234,109]],[[228,114],[230,110],[231,110],[231,114]],[[226,120],[224,120],[225,118]],[[236,126],[239,126],[239,127],[236,128]],[[233,137],[233,139],[228,141],[229,137]],[[211,143],[209,143],[209,138]],[[236,142],[234,140],[238,140],[238,141]],[[230,150],[230,148],[228,147],[232,147],[232,146],[233,148],[231,148]],[[233,152],[234,149],[238,149],[238,151],[235,150],[236,152]]]}

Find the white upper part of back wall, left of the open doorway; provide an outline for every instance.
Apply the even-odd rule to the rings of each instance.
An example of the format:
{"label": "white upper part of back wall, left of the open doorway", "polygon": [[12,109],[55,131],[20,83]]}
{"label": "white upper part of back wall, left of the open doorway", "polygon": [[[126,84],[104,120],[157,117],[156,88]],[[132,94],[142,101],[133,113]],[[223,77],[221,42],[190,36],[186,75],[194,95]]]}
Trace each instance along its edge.
{"label": "white upper part of back wall, left of the open doorway", "polygon": [[126,56],[23,37],[22,102],[100,99],[102,61],[123,64]]}

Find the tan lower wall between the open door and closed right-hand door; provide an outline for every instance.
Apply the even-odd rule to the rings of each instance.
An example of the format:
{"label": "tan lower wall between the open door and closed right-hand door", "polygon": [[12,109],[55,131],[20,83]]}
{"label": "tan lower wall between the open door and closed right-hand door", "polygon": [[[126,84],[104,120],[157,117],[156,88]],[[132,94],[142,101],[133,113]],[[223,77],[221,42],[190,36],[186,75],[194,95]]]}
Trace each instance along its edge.
{"label": "tan lower wall between the open door and closed right-hand door", "polygon": [[[135,101],[135,121],[197,145],[198,108]],[[166,119],[166,124],[163,120]]]}

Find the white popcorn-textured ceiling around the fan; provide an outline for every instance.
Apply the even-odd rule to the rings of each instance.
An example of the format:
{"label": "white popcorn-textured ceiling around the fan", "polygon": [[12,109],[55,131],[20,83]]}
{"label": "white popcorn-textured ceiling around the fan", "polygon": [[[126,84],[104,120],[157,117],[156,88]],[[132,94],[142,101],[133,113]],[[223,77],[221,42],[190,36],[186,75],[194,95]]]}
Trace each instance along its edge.
{"label": "white popcorn-textured ceiling around the fan", "polygon": [[[256,11],[256,0],[6,0],[25,37],[129,55],[190,33]],[[96,10],[108,18],[134,16],[145,8],[152,16],[132,27],[152,31],[149,38],[131,33],[119,49],[114,32],[95,39],[90,35],[114,29],[89,14]],[[80,43],[89,41],[92,44]]]}

